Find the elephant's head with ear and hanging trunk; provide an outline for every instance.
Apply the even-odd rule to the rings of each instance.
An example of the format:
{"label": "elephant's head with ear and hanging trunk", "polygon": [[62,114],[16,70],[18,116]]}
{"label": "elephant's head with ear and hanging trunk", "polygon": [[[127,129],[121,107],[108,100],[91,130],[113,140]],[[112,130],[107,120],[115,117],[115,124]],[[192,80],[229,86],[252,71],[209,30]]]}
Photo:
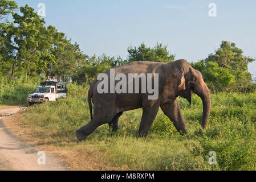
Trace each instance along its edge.
{"label": "elephant's head with ear and hanging trunk", "polygon": [[202,75],[199,71],[192,68],[185,60],[174,61],[172,67],[174,73],[178,77],[178,96],[184,97],[191,104],[191,97],[196,93],[203,104],[202,122],[201,126],[205,129],[210,114],[210,92],[208,86],[205,84]]}

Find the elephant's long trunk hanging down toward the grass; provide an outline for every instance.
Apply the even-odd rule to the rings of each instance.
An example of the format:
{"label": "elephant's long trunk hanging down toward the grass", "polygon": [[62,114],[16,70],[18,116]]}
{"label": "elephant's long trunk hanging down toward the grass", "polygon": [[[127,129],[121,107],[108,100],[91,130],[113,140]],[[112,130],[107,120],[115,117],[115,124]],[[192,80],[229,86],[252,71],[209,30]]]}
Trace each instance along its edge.
{"label": "elephant's long trunk hanging down toward the grass", "polygon": [[204,84],[202,86],[202,90],[200,93],[196,93],[201,99],[202,99],[202,105],[203,105],[203,111],[202,111],[202,121],[201,126],[203,129],[205,129],[209,114],[210,114],[210,91],[208,89],[208,86]]}

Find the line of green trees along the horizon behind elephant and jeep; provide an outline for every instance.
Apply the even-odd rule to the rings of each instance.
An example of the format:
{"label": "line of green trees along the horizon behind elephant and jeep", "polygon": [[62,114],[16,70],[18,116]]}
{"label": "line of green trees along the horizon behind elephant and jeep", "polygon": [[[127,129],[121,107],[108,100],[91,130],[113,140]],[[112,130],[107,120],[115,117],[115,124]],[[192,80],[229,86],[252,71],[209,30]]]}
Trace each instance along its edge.
{"label": "line of green trees along the horizon behind elephant and jeep", "polygon": [[[18,10],[16,2],[0,0],[1,80],[12,82],[17,78],[44,79],[47,75],[55,75],[64,81],[88,84],[99,73],[117,65],[175,59],[162,43],[153,48],[142,43],[127,51],[127,59],[105,54],[88,56],[63,32],[46,26],[32,7],[26,5]],[[255,85],[247,71],[252,61],[254,59],[244,56],[235,43],[223,41],[217,51],[192,65],[202,73],[212,92],[253,92]]]}

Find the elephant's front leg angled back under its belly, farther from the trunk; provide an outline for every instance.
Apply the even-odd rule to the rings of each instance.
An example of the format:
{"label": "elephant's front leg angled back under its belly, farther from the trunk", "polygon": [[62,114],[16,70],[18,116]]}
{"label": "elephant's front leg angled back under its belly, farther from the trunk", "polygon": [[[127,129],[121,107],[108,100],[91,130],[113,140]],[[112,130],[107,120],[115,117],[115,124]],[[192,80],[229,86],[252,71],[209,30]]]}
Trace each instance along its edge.
{"label": "elephant's front leg angled back under its belly, farther from the trunk", "polygon": [[157,103],[152,107],[143,108],[138,137],[145,137],[148,134],[148,130],[155,120],[158,110],[159,104]]}

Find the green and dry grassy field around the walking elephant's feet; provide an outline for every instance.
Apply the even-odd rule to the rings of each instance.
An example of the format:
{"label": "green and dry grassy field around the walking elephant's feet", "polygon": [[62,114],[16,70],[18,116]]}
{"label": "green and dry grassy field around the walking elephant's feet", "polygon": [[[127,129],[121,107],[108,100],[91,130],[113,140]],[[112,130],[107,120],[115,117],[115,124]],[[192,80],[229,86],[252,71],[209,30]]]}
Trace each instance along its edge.
{"label": "green and dry grassy field around the walking elephant's feet", "polygon": [[[14,130],[44,150],[62,151],[73,169],[255,170],[256,93],[212,94],[207,129],[199,134],[202,102],[178,98],[188,127],[181,136],[161,109],[147,138],[136,138],[141,109],[127,111],[113,133],[100,126],[85,141],[75,131],[90,121],[87,86],[68,85],[68,98],[29,107],[14,116]],[[216,151],[217,164],[208,162]],[[91,165],[91,166],[90,166]]]}

